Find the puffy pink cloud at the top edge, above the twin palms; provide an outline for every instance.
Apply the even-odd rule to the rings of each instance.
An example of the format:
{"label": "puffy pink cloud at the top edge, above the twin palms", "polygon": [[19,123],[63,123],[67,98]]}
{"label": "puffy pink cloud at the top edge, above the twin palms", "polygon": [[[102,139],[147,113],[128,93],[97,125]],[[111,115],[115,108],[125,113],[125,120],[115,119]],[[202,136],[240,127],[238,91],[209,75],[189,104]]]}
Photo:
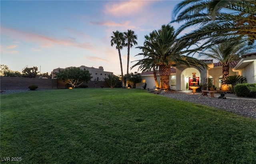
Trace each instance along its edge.
{"label": "puffy pink cloud at the top edge, above the twin palms", "polygon": [[146,8],[146,6],[154,3],[154,1],[148,0],[129,0],[129,1],[117,1],[110,2],[105,6],[105,13],[114,16],[130,16],[138,14]]}

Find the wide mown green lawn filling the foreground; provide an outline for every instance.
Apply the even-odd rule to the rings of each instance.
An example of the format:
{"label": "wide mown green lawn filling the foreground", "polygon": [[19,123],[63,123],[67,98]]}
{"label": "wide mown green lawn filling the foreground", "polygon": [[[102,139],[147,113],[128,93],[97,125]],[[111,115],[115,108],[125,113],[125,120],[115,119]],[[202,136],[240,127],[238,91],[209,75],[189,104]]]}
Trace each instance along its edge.
{"label": "wide mown green lawn filling the foreground", "polygon": [[1,163],[256,163],[256,120],[142,89],[1,95]]}

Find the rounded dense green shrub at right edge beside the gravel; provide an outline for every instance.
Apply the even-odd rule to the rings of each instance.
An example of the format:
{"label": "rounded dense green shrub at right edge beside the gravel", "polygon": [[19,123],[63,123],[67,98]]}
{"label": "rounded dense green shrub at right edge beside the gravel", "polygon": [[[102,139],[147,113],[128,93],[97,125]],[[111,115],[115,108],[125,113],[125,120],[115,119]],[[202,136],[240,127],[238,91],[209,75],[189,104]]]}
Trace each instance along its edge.
{"label": "rounded dense green shrub at right edge beside the gravel", "polygon": [[251,89],[249,89],[250,87],[256,87],[256,83],[254,84],[248,84],[248,83],[244,83],[244,84],[237,84],[234,87],[234,92],[238,97],[256,97],[256,91],[252,91]]}

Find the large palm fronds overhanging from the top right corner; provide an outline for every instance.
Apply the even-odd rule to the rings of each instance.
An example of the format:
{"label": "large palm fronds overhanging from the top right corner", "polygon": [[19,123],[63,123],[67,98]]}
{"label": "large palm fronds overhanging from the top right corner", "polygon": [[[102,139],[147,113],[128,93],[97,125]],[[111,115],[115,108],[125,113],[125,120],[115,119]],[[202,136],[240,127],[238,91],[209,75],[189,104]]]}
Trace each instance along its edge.
{"label": "large palm fronds overhanging from the top right corner", "polygon": [[182,37],[190,45],[204,41],[195,49],[197,51],[227,40],[247,40],[253,44],[256,40],[255,13],[255,0],[184,0],[174,8],[172,22],[184,22],[178,32],[199,27]]}

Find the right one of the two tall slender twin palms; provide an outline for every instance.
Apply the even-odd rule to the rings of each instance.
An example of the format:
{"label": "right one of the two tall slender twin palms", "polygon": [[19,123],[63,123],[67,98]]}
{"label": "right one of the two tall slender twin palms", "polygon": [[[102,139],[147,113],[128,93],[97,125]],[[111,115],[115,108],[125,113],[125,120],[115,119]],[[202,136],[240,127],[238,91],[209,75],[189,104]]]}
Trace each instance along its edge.
{"label": "right one of the two tall slender twin palms", "polygon": [[124,32],[124,39],[125,39],[125,46],[127,47],[127,72],[126,74],[129,74],[129,60],[130,60],[130,48],[133,45],[137,45],[137,35],[132,30],[128,30],[127,32]]}

